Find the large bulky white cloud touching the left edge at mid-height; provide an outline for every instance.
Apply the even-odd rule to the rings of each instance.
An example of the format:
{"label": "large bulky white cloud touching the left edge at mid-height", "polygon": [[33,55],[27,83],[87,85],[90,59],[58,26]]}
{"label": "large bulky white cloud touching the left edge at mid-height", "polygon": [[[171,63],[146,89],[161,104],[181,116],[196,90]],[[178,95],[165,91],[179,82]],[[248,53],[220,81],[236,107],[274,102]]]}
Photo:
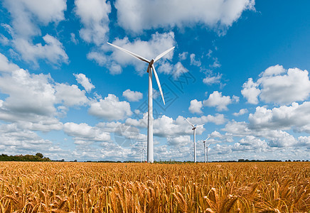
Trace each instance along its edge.
{"label": "large bulky white cloud touching the left edge at mid-height", "polygon": [[0,75],[0,91],[7,95],[0,101],[0,119],[13,122],[21,129],[59,130],[62,124],[57,116],[68,107],[88,102],[85,91],[76,85],[59,84],[50,75],[30,74],[23,69]]}

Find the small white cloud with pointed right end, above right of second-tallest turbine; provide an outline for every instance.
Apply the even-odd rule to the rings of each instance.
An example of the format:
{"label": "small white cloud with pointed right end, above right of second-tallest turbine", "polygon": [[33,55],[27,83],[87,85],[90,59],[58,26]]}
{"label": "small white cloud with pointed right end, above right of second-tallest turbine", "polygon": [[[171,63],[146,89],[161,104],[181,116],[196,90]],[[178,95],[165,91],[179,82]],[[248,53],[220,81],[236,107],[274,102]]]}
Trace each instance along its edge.
{"label": "small white cloud with pointed right end, above right of second-tallest turbine", "polygon": [[203,106],[216,107],[216,110],[223,111],[228,110],[227,106],[232,102],[238,102],[239,98],[233,96],[224,96],[222,92],[214,91],[209,95],[209,98],[203,101]]}

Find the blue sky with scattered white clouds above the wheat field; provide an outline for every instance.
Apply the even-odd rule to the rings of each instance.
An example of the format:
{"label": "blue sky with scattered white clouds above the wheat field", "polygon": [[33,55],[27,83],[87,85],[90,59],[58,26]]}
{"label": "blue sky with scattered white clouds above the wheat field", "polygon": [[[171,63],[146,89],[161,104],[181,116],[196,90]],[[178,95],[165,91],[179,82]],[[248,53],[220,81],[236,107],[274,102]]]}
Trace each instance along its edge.
{"label": "blue sky with scattered white clouds above the wheat field", "polygon": [[[154,160],[309,160],[309,1],[3,0],[0,150],[140,160],[155,58]],[[144,153],[144,159],[146,153]]]}

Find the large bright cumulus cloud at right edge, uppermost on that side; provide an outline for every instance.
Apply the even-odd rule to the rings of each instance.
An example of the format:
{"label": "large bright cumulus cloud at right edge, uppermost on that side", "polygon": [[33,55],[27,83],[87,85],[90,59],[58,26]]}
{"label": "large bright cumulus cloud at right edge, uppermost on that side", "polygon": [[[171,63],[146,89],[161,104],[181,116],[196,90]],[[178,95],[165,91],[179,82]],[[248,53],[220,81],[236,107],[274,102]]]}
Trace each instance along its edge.
{"label": "large bright cumulus cloud at right edge, uppermost on that side", "polygon": [[298,68],[285,70],[280,65],[268,67],[257,82],[252,78],[245,82],[241,93],[250,104],[257,104],[257,97],[274,104],[305,101],[310,94],[309,72]]}

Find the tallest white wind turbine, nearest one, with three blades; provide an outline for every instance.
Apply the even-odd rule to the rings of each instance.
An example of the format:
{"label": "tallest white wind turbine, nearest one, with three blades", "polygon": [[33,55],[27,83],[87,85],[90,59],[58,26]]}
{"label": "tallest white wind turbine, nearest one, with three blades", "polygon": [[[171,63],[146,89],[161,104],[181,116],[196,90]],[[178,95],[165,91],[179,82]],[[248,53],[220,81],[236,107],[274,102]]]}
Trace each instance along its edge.
{"label": "tallest white wind turbine, nearest one, with three blades", "polygon": [[154,162],[154,143],[153,143],[153,87],[152,87],[152,77],[153,72],[156,79],[156,82],[159,86],[159,92],[161,92],[161,97],[163,99],[163,102],[165,104],[164,94],[161,90],[161,84],[159,82],[159,77],[157,75],[157,72],[154,67],[154,62],[161,59],[164,55],[169,53],[171,50],[173,50],[174,47],[164,51],[163,53],[156,56],[155,59],[147,60],[140,55],[137,55],[136,53],[132,53],[129,50],[125,50],[124,48],[120,48],[117,45],[114,45],[112,43],[108,43],[109,45],[112,45],[114,48],[117,48],[119,50],[122,50],[123,52],[132,55],[132,57],[137,58],[141,61],[147,62],[149,66],[147,67],[147,72],[149,72],[149,105],[148,105],[148,115],[147,115],[147,162],[153,163]]}

